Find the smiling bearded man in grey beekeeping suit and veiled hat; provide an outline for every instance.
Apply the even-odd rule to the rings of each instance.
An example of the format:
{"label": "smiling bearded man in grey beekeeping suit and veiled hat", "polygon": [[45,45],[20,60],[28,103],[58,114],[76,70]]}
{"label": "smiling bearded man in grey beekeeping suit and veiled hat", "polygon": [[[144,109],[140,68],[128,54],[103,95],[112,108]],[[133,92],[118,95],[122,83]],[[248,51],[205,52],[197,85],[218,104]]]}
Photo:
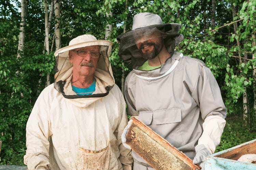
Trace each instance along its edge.
{"label": "smiling bearded man in grey beekeeping suit and veiled hat", "polygon": [[[156,14],[140,13],[133,17],[132,31],[117,37],[118,54],[134,64],[125,80],[125,98],[129,115],[203,168],[205,157],[214,153],[221,139],[226,107],[211,70],[174,51],[183,39],[180,28],[162,23]],[[153,169],[135,152],[131,155],[134,170]]]}

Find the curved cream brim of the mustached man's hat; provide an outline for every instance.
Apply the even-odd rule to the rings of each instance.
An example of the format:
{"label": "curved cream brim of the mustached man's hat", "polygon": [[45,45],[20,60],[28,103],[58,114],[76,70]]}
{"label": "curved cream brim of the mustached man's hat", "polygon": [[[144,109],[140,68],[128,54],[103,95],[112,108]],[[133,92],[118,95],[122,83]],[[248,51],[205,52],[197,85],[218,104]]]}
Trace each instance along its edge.
{"label": "curved cream brim of the mustached man's hat", "polygon": [[[57,57],[68,57],[68,51],[76,48],[82,48],[87,46],[112,46],[112,42],[109,40],[94,40],[94,41],[86,41],[84,43],[74,44],[70,46],[63,47],[57,51],[55,51],[54,56]],[[108,52],[109,53],[109,52]]]}

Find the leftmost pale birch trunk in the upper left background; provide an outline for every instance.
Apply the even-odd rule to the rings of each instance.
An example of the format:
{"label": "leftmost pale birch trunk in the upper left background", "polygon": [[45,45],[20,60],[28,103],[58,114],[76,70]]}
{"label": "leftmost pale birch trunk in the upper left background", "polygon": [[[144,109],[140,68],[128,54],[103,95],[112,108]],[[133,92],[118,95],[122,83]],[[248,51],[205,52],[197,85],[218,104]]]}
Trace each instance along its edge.
{"label": "leftmost pale birch trunk in the upper left background", "polygon": [[17,60],[20,58],[20,53],[23,51],[24,43],[25,43],[25,25],[28,11],[28,1],[21,1],[21,22],[19,24],[19,44],[18,44],[18,53]]}

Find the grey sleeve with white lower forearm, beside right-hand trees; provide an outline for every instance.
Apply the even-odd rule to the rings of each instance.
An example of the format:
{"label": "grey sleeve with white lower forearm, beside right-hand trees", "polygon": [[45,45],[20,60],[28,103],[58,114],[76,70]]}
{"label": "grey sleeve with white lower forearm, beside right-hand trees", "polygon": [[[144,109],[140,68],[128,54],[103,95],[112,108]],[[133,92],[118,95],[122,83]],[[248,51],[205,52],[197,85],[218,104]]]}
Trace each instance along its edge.
{"label": "grey sleeve with white lower forearm, beside right-hand trees", "polygon": [[202,68],[192,95],[193,98],[198,99],[197,102],[200,105],[204,121],[203,133],[198,140],[198,145],[203,144],[210,152],[214,153],[226,124],[227,111],[219,86],[209,68]]}

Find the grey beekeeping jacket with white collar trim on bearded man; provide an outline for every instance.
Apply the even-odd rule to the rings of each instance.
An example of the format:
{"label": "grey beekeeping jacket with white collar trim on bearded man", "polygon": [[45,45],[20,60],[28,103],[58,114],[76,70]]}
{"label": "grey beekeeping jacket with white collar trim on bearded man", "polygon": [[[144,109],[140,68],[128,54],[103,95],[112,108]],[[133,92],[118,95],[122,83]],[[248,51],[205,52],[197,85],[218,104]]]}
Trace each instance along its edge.
{"label": "grey beekeeping jacket with white collar trim on bearded man", "polygon": [[190,158],[196,145],[214,152],[220,141],[226,107],[211,70],[200,60],[174,52],[159,69],[133,69],[126,77],[125,99],[128,115],[139,116]]}

